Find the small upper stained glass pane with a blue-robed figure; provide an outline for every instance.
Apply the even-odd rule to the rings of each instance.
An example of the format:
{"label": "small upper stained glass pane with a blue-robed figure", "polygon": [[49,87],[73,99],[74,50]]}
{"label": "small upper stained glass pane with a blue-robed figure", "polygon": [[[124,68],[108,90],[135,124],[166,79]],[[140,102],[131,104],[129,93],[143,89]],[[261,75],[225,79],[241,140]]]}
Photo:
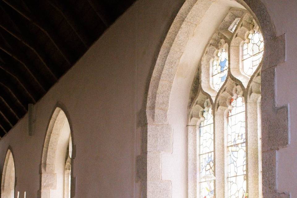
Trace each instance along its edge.
{"label": "small upper stained glass pane with a blue-robed figure", "polygon": [[228,74],[228,53],[221,49],[217,56],[218,60],[213,61],[213,88],[219,90],[224,84]]}

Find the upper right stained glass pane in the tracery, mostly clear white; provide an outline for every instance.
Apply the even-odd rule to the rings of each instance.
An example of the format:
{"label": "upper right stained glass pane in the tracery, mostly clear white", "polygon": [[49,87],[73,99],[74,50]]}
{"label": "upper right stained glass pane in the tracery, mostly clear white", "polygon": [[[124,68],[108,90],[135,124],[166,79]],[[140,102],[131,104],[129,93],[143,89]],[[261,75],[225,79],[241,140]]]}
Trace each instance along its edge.
{"label": "upper right stained glass pane in the tracery, mostly clear white", "polygon": [[251,76],[263,58],[264,41],[262,34],[255,31],[249,33],[249,42],[243,44],[243,72]]}

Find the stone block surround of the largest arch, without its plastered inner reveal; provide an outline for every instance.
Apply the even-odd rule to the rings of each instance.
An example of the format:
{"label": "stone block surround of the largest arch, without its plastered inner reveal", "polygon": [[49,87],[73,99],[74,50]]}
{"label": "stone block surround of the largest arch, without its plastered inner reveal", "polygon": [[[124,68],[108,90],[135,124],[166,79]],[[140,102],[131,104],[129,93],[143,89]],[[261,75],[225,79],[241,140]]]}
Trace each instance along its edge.
{"label": "stone block surround of the largest arch, without its plastered inner reveal", "polygon": [[[278,107],[275,103],[275,68],[285,61],[285,37],[276,35],[268,11],[260,0],[236,2],[248,10],[259,24],[265,42],[261,71],[263,197],[289,197],[287,193],[278,192],[276,162],[277,150],[289,144],[288,108]],[[173,149],[173,131],[168,123],[171,89],[186,45],[199,29],[201,19],[213,3],[212,0],[186,0],[175,17],[158,55],[146,106],[148,197],[172,195],[171,180],[161,178],[161,154],[171,153]],[[190,99],[191,104],[193,98]]]}

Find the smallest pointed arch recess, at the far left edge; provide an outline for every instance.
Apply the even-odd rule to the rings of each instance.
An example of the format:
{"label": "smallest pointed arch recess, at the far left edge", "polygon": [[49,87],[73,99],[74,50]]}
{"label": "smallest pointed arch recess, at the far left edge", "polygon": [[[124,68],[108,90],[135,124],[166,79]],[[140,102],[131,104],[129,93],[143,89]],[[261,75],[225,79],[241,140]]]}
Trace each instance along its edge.
{"label": "smallest pointed arch recess, at the far left edge", "polygon": [[15,162],[10,149],[7,150],[3,166],[1,179],[1,197],[15,197]]}

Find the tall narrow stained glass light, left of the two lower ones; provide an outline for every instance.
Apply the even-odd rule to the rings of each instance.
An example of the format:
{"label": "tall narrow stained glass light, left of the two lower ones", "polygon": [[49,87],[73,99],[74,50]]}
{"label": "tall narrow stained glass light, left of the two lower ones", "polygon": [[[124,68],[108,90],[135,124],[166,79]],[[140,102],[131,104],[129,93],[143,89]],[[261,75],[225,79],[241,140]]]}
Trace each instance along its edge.
{"label": "tall narrow stained glass light, left of the two lower ones", "polygon": [[200,197],[214,198],[214,152],[213,152],[213,115],[211,108],[204,110],[205,118],[200,124]]}

